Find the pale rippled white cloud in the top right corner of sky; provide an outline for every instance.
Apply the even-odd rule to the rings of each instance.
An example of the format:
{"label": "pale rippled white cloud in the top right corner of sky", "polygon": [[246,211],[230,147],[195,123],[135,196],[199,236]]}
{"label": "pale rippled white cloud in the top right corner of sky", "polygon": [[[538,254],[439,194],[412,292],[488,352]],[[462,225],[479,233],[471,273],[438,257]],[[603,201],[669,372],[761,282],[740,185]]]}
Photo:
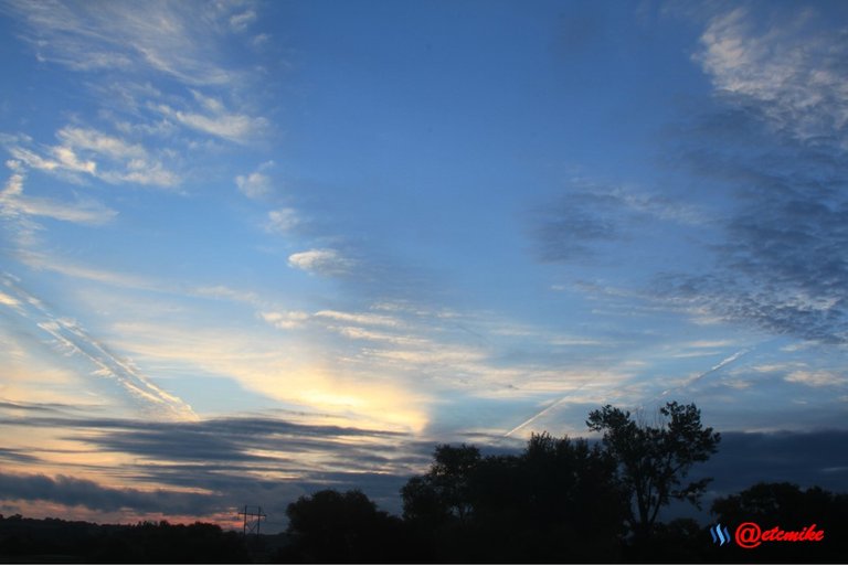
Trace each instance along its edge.
{"label": "pale rippled white cloud in the top right corner of sky", "polygon": [[718,14],[695,56],[721,94],[754,105],[774,129],[803,141],[842,137],[848,126],[848,32],[815,8]]}

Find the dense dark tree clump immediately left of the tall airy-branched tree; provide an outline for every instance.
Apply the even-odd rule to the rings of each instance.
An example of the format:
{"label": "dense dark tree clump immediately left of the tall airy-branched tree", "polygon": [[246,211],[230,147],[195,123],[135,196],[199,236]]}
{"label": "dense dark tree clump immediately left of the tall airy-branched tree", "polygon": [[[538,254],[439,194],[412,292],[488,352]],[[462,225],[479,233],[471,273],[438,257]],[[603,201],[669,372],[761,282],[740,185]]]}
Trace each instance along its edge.
{"label": "dense dark tree clump immediately left of the tall airy-branched tree", "polygon": [[615,469],[598,447],[547,434],[518,456],[439,446],[402,490],[404,519],[426,560],[614,560],[626,513]]}

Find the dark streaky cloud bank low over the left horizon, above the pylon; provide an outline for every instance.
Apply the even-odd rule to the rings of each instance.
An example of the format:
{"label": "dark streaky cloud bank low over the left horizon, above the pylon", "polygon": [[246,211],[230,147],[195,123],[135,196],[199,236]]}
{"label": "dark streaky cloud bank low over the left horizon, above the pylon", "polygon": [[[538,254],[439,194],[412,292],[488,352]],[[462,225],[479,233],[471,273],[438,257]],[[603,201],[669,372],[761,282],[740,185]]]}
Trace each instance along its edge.
{"label": "dark streaky cloud bank low over the left horizon, above the pylon", "polygon": [[[400,511],[398,489],[426,466],[431,444],[388,430],[319,424],[324,419],[317,414],[194,423],[38,413],[7,417],[6,427],[62,430],[82,442],[74,449],[95,455],[86,461],[94,463],[99,479],[76,477],[93,476],[85,463],[64,466],[54,477],[2,473],[0,499],[190,516],[258,500],[282,520],[286,504],[298,495],[332,487],[365,488]],[[0,450],[0,460],[18,461],[18,451]],[[134,484],[161,488],[142,490]]]}

